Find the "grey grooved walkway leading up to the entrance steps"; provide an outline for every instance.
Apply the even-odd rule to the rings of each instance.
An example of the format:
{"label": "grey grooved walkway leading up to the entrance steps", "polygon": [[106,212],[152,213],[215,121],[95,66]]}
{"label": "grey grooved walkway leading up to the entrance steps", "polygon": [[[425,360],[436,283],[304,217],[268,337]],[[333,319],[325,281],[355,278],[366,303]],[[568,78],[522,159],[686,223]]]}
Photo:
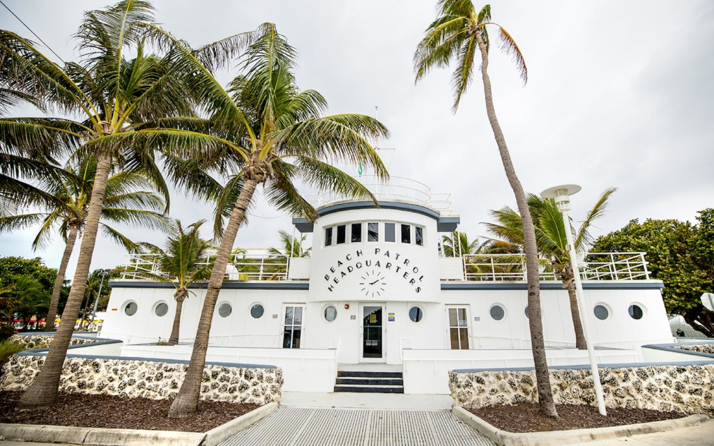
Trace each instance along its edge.
{"label": "grey grooved walkway leading up to the entrance steps", "polygon": [[220,446],[493,446],[445,410],[281,407]]}

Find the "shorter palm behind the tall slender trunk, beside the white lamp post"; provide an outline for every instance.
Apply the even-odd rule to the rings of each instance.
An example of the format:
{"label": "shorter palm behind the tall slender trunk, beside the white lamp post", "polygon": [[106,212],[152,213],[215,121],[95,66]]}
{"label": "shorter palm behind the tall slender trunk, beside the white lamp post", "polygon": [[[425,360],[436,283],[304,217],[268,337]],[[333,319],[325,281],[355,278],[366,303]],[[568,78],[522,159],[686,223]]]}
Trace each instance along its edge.
{"label": "shorter palm behind the tall slender trunk, beside the white lamp post", "polygon": [[[592,237],[588,229],[593,221],[603,216],[608,205],[608,198],[617,191],[616,188],[608,188],[600,195],[588,217],[575,231],[572,226],[568,230],[575,234],[575,250],[578,253],[585,253],[592,243]],[[535,238],[538,242],[538,252],[541,257],[548,260],[553,267],[555,275],[563,281],[563,288],[568,290],[570,300],[570,315],[573,318],[573,329],[575,330],[575,348],[585,350],[588,344],[585,342],[583,333],[583,323],[580,320],[580,310],[578,310],[578,298],[575,295],[575,283],[573,266],[570,263],[568,253],[568,241],[565,238],[565,226],[563,217],[555,206],[552,198],[540,198],[532,193],[528,194],[528,208],[531,209],[533,224],[535,225]],[[508,206],[498,211],[491,211],[491,217],[496,223],[486,223],[488,230],[501,238],[500,243],[510,244],[514,247],[523,247],[523,223],[521,216]]]}

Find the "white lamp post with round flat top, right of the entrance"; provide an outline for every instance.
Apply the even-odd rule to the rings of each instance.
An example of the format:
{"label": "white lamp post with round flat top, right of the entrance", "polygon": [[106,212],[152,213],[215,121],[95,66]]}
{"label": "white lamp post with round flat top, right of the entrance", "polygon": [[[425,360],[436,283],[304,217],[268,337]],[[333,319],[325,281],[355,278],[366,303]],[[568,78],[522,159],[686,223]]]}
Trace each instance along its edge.
{"label": "white lamp post with round flat top, right of the entrance", "polygon": [[598,410],[600,415],[608,415],[605,410],[605,399],[603,398],[603,386],[600,384],[600,374],[598,373],[598,363],[595,361],[595,349],[590,340],[590,324],[588,323],[587,313],[583,308],[583,283],[580,281],[580,268],[578,268],[578,253],[575,252],[575,243],[573,243],[573,233],[570,230],[570,196],[580,192],[580,186],[575,184],[565,184],[563,186],[555,186],[545,189],[540,193],[543,198],[555,199],[555,206],[558,206],[558,211],[563,214],[563,225],[565,228],[565,240],[568,241],[568,253],[570,254],[570,265],[573,266],[573,276],[575,276],[575,297],[578,300],[578,309],[580,309],[580,321],[583,323],[583,334],[585,335],[585,343],[588,344],[588,358],[590,358],[590,372],[593,374],[593,383],[595,384],[595,397],[598,400]]}

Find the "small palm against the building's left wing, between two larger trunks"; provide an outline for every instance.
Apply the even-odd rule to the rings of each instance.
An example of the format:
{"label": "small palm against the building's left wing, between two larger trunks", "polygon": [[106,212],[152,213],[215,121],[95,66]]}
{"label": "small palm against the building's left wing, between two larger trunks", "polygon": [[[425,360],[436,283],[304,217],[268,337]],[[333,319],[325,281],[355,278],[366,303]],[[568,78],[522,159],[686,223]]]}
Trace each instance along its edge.
{"label": "small palm against the building's left wing, between two larger trunks", "polygon": [[[188,298],[188,287],[200,280],[208,279],[211,273],[211,262],[206,263],[208,250],[211,249],[211,242],[203,240],[198,229],[206,223],[199,220],[188,225],[186,230],[181,225],[181,221],[176,220],[176,226],[171,231],[171,235],[166,239],[166,250],[149,243],[142,245],[149,248],[149,252],[156,254],[156,265],[161,271],[160,274],[141,272],[146,276],[159,282],[171,283],[176,292],[176,313],[174,313],[174,323],[171,325],[171,335],[169,345],[178,344],[178,330],[181,328],[181,310],[183,301]],[[188,230],[188,231],[187,231]]]}

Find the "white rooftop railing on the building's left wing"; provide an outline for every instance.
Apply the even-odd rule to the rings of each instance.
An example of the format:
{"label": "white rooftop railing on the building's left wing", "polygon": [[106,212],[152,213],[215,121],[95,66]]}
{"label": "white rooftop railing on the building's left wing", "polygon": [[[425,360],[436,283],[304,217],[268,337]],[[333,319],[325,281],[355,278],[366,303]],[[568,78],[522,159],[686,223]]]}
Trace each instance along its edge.
{"label": "white rooftop railing on the building's left wing", "polygon": [[[201,265],[215,258],[211,252],[203,257]],[[158,254],[129,254],[129,262],[122,268],[123,279],[149,279],[167,275],[159,270]],[[288,280],[290,256],[270,254],[264,249],[247,249],[231,254],[223,280]]]}

